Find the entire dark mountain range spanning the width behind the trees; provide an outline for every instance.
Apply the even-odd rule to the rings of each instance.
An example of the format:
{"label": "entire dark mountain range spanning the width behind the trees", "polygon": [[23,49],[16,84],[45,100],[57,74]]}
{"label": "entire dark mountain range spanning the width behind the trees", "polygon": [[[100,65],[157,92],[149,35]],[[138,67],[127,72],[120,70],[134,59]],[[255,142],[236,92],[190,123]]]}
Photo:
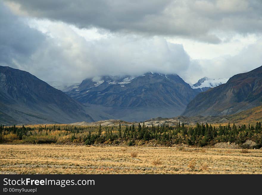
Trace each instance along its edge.
{"label": "entire dark mountain range spanning the width behind the trees", "polygon": [[[34,75],[0,66],[0,123],[74,123],[100,120],[232,115],[262,104],[262,66],[236,74],[227,83],[192,88],[177,74],[147,72],[85,79],[65,93]],[[211,79],[213,80],[213,79]],[[201,92],[201,93],[200,93]],[[69,97],[71,96],[71,97]],[[209,119],[208,119],[209,120]]]}

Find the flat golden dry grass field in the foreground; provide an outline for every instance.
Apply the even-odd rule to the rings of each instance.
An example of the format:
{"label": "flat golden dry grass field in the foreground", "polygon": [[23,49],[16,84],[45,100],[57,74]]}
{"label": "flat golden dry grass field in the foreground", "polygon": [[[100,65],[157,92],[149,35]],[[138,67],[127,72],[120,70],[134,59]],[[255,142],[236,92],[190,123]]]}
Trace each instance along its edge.
{"label": "flat golden dry grass field in the foreground", "polygon": [[262,150],[0,145],[0,173],[262,174]]}

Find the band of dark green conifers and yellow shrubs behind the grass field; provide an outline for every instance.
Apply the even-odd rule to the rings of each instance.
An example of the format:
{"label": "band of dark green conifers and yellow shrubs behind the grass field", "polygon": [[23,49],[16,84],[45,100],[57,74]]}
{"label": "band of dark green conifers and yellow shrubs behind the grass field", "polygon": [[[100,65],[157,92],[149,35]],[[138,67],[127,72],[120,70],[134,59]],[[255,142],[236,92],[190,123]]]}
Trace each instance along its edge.
{"label": "band of dark green conifers and yellow shrubs behind the grass field", "polygon": [[[9,136],[8,136],[9,135]],[[11,136],[12,135],[12,136]],[[70,126],[48,125],[38,127],[0,126],[0,142],[22,140],[38,143],[70,143],[77,142],[85,145],[118,144],[136,145],[136,142],[155,141],[160,145],[187,144],[192,146],[214,145],[218,142],[235,142],[243,144],[247,139],[256,143],[255,148],[262,147],[261,123],[212,126],[197,123],[195,126],[185,126],[177,122],[175,126],[145,126],[138,123],[130,126]],[[7,139],[8,138],[8,139]],[[30,138],[30,139],[29,139]],[[42,140],[42,141],[41,141]]]}

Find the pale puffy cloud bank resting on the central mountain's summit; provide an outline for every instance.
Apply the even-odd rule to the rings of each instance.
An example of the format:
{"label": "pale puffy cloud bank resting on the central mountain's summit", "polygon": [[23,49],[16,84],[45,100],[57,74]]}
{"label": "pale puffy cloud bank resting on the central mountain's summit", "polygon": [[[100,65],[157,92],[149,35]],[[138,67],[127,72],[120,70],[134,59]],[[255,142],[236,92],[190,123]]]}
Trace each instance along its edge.
{"label": "pale puffy cloud bank resting on the central mountain's summit", "polygon": [[54,28],[52,37],[31,56],[35,74],[43,74],[40,78],[44,80],[74,83],[94,76],[141,75],[148,71],[180,74],[190,64],[183,45],[161,37],[114,35],[86,40],[65,24],[55,24]]}

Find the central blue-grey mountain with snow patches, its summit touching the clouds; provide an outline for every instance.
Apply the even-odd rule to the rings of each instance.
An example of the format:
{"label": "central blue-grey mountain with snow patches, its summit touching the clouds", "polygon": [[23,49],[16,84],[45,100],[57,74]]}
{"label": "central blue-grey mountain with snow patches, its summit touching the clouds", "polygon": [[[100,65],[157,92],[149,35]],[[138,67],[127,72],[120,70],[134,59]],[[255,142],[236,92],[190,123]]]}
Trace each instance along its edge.
{"label": "central blue-grey mountain with snow patches, its summit touching the clouds", "polygon": [[127,75],[86,79],[66,93],[117,119],[144,121],[180,115],[199,92],[177,74],[147,72],[135,78]]}

